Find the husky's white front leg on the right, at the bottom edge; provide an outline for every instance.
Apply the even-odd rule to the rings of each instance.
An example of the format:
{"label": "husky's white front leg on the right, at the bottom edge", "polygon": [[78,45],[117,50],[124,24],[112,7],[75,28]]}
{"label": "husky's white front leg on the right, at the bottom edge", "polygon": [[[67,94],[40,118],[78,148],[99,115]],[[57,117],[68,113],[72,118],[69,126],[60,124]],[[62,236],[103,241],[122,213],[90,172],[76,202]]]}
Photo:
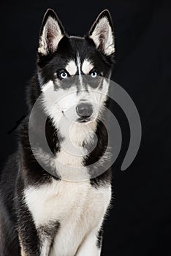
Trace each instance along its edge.
{"label": "husky's white front leg on the right, at the bottom edge", "polygon": [[99,238],[98,230],[93,230],[83,240],[75,256],[100,256],[101,254],[101,237]]}

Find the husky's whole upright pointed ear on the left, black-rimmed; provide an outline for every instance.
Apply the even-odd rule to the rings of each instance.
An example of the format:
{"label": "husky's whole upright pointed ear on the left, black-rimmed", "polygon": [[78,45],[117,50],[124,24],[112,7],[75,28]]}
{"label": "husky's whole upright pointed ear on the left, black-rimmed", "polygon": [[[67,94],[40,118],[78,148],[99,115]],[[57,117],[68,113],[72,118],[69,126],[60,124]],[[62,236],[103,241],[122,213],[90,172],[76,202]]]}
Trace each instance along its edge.
{"label": "husky's whole upright pointed ear on the left, black-rimmed", "polygon": [[64,37],[64,28],[58,19],[56,12],[48,9],[42,21],[39,35],[38,53],[46,56],[54,53],[58,48],[58,43]]}

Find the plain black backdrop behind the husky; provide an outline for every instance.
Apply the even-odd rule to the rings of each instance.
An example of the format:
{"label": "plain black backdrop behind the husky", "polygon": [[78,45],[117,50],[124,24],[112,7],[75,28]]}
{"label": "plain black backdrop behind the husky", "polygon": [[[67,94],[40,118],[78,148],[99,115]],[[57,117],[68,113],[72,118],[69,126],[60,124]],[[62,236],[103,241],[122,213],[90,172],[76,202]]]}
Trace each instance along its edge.
{"label": "plain black backdrop behind the husky", "polygon": [[104,226],[103,255],[171,255],[170,1],[1,2],[1,163],[15,150],[11,131],[26,115],[26,82],[34,72],[47,7],[74,35],[85,34],[100,11],[110,10],[116,44],[113,80],[132,97],[142,121],[140,151],[121,172],[129,126],[114,105],[123,147],[113,166],[113,208]]}

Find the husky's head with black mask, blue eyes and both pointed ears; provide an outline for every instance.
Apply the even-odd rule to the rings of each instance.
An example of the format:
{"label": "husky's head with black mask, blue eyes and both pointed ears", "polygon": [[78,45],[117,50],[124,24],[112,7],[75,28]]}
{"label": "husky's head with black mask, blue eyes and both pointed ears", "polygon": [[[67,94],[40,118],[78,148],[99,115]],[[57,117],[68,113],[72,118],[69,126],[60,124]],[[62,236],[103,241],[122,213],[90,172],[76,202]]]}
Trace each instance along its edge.
{"label": "husky's head with black mask, blue eyes and both pointed ears", "polygon": [[56,13],[47,10],[39,38],[38,77],[45,110],[56,125],[96,123],[107,100],[114,51],[107,10],[83,38],[67,36]]}

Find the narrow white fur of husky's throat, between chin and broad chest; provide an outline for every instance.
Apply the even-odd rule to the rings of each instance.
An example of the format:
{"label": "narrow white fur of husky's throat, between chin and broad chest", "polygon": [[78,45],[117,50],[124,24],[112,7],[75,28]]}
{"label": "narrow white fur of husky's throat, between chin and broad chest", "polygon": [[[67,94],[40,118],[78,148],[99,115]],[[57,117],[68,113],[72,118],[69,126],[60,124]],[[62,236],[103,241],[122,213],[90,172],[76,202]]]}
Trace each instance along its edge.
{"label": "narrow white fur of husky's throat, between chin and broad chest", "polygon": [[[96,122],[83,127],[80,124],[69,124],[69,121],[61,122],[60,131],[65,140],[61,142],[61,149],[56,154],[52,165],[58,172],[58,175],[67,181],[84,181],[90,178],[86,167],[83,167],[83,157],[86,157],[88,151],[83,148],[83,142],[88,143],[92,140],[96,129]],[[62,129],[68,127],[68,130]],[[65,133],[66,130],[66,133]]]}

